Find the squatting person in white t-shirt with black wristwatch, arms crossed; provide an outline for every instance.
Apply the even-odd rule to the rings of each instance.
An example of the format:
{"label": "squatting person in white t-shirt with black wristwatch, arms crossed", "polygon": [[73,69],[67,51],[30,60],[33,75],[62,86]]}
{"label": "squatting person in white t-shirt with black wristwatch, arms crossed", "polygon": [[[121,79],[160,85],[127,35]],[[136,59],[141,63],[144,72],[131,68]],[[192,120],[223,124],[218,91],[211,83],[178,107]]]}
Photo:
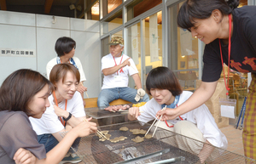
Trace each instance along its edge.
{"label": "squatting person in white t-shirt with black wristwatch, arms crossed", "polygon": [[[50,71],[49,81],[54,85],[54,91],[48,98],[49,107],[40,119],[30,118],[38,134],[38,142],[44,144],[46,152],[61,141],[61,132],[68,132],[85,119],[83,99],[77,91],[79,70],[69,63],[55,65]],[[81,161],[73,150],[69,152],[62,163]]]}

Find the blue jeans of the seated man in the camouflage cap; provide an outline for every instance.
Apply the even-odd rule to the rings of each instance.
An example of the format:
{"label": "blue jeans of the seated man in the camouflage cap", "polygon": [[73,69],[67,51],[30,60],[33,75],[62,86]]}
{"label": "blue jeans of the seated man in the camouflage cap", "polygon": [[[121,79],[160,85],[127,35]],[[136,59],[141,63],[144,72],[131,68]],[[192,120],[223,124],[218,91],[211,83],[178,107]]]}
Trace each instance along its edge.
{"label": "blue jeans of the seated man in the camouflage cap", "polygon": [[[98,107],[109,106],[109,103],[115,99],[125,99],[133,104],[137,104],[138,102],[134,99],[136,95],[137,90],[134,88],[105,88],[99,94],[97,105]],[[143,99],[139,100],[139,102],[148,101],[149,97],[147,93],[143,96]]]}

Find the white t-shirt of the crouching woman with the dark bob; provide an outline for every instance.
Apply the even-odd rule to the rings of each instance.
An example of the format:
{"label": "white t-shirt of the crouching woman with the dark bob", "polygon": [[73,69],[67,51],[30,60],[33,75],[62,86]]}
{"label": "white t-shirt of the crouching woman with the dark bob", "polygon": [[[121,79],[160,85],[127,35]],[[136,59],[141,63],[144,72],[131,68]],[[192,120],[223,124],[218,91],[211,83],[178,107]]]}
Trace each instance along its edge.
{"label": "white t-shirt of the crouching woman with the dark bob", "polygon": [[[192,95],[189,91],[183,91],[180,94],[177,106],[182,105],[184,101],[189,99]],[[177,108],[177,106],[175,108]],[[140,107],[140,111],[144,111],[141,116],[137,117],[137,120],[140,122],[149,122],[155,119],[156,113],[161,110],[161,105],[158,104],[154,99],[150,99],[146,105]],[[207,108],[207,105],[201,105],[195,110],[191,110],[188,113],[185,113],[181,116],[183,120],[187,120],[196,125],[196,127],[201,131],[204,138],[207,139],[212,145],[219,148],[226,149],[228,146],[228,141],[219,129],[214,121],[214,118],[210,111]],[[168,120],[172,124],[177,122],[182,122],[179,117],[174,120]],[[167,127],[167,126],[166,126]]]}

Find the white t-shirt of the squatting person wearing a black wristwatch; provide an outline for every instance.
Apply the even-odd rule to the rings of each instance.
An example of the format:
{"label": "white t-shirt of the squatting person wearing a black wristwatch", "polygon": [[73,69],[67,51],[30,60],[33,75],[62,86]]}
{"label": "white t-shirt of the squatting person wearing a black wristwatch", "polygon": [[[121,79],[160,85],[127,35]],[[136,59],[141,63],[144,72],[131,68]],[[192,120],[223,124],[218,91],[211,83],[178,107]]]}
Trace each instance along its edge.
{"label": "white t-shirt of the squatting person wearing a black wristwatch", "polygon": [[[50,106],[45,110],[40,119],[32,118],[31,116],[29,117],[33,130],[38,135],[44,133],[57,133],[64,128],[58,116],[55,114],[53,95],[50,95],[48,99]],[[65,110],[65,104],[66,101],[62,101],[58,106]],[[85,116],[83,100],[79,92],[74,93],[72,99],[67,99],[67,111],[74,117]]]}

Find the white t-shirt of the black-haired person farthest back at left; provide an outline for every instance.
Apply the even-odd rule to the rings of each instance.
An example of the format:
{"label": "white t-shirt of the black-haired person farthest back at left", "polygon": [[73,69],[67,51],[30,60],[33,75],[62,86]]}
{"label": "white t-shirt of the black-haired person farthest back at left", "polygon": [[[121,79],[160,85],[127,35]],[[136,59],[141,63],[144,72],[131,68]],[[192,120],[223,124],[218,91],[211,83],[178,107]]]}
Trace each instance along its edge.
{"label": "white t-shirt of the black-haired person farthest back at left", "polygon": [[[86,81],[83,66],[81,64],[80,59],[78,59],[77,57],[74,56],[73,60],[76,63],[76,65],[79,67],[80,82]],[[48,79],[49,79],[49,73],[50,73],[51,69],[54,67],[54,65],[57,65],[57,57],[55,57],[54,59],[49,60],[49,62],[46,65],[46,73],[47,73]]]}

